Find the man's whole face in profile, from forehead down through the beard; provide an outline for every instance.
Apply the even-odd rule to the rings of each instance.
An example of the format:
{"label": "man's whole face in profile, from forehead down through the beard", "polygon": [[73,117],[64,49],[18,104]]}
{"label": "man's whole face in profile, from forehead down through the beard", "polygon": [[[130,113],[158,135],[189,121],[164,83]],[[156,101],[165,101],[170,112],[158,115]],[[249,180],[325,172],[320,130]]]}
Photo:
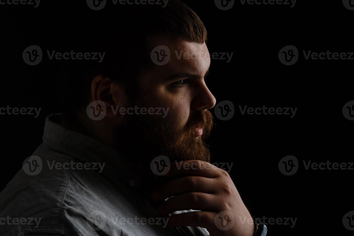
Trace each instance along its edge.
{"label": "man's whole face in profile, from forehead down through the beard", "polygon": [[143,155],[145,161],[160,155],[170,161],[210,161],[203,140],[212,128],[207,109],[214,107],[216,100],[204,81],[210,66],[207,46],[162,37],[154,45],[169,47],[171,59],[142,71],[137,82],[139,95],[127,106],[154,108],[155,112],[163,108],[167,115],[163,109],[160,115],[126,115],[126,123],[116,130],[117,145],[125,154],[138,159]]}

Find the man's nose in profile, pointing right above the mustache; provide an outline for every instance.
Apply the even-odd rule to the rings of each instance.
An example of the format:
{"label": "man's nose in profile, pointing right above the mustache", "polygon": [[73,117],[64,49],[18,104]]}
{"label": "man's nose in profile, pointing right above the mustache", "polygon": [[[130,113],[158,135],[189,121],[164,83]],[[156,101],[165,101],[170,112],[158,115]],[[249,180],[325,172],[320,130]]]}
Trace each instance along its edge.
{"label": "man's nose in profile, pointing right above the mustache", "polygon": [[211,109],[216,104],[216,99],[213,94],[210,92],[209,88],[206,86],[205,82],[202,81],[202,84],[195,88],[195,96],[192,100],[191,109],[192,110],[206,110]]}

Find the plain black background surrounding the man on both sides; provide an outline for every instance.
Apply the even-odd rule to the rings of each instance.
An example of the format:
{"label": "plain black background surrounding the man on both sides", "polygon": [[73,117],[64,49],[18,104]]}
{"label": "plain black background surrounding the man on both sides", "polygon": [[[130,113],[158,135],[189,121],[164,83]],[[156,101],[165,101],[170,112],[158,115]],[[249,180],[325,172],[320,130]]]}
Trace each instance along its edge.
{"label": "plain black background surrounding the man on both sides", "polygon": [[[342,1],[298,0],[293,8],[235,1],[227,11],[214,1],[183,2],[204,22],[209,52],[233,52],[229,63],[212,60],[206,81],[217,103],[230,100],[235,106],[232,119],[215,117],[208,140],[212,162],[233,162],[229,174],[255,217],[297,218],[293,228],[268,224],[267,235],[353,235],[342,218],[354,210],[354,171],[305,170],[302,161],[353,162],[354,121],[343,116],[342,108],[354,100],[354,60],[305,60],[302,50],[353,52],[354,11]],[[0,11],[0,107],[41,108],[37,118],[0,115],[2,190],[42,142],[45,117],[60,112],[51,62],[27,65],[22,52],[30,45],[51,45],[57,25],[68,23],[69,13],[92,10],[85,1],[74,6],[51,0],[37,8],[0,5]],[[287,45],[301,54],[291,66],[278,58]],[[298,109],[293,118],[241,115],[239,105]],[[291,176],[278,168],[287,155],[300,163]]]}

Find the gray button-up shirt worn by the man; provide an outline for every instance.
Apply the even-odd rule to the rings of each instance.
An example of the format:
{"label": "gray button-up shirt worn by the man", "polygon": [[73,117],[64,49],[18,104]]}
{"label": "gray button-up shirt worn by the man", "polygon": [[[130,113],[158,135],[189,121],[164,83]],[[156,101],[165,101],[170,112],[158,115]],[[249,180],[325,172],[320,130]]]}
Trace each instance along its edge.
{"label": "gray button-up shirt worn by the man", "polygon": [[209,235],[204,228],[167,225],[167,215],[138,194],[142,179],[124,158],[64,128],[61,117],[46,118],[43,143],[1,191],[0,235]]}

